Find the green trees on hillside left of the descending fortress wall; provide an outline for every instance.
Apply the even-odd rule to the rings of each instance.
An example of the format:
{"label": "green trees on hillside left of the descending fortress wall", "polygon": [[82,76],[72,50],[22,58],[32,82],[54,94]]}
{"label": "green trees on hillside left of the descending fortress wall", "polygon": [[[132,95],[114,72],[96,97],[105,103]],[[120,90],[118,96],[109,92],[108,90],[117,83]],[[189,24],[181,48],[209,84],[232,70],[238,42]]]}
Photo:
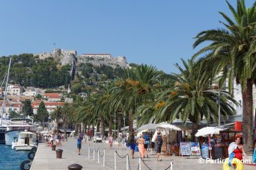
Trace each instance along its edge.
{"label": "green trees on hillside left of the descending fortress wall", "polygon": [[[33,54],[12,55],[10,68],[10,84],[52,88],[67,87],[70,82],[70,65],[58,66],[58,61],[52,57],[39,60]],[[9,57],[0,57],[0,80],[8,69]]]}

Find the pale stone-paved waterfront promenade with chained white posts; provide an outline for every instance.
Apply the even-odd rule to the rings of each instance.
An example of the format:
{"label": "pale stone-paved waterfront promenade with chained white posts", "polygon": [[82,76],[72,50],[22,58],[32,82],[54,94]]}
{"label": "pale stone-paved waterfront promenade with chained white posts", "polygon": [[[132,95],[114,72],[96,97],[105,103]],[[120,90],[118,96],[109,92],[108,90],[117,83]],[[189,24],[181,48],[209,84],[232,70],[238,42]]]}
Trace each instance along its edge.
{"label": "pale stone-paved waterfront promenade with chained white posts", "polygon": [[[103,157],[100,157],[100,163],[97,163],[98,155],[95,153],[95,160],[93,160],[93,154],[90,152],[90,159],[88,158],[88,145],[91,147],[93,152],[93,146],[95,149],[100,149],[100,154],[103,154],[103,149],[106,148],[106,166],[103,167]],[[118,145],[114,145],[113,149],[109,149],[109,145],[106,143],[94,143],[88,142],[82,144],[82,153],[78,155],[76,150],[76,140],[68,139],[68,142],[62,142],[61,147],[56,149],[62,149],[62,159],[56,159],[55,151],[51,151],[51,147],[46,147],[45,144],[41,143],[37,149],[37,153],[34,157],[32,163],[32,170],[48,170],[48,169],[67,169],[67,166],[70,166],[73,163],[78,163],[83,166],[83,169],[114,169],[115,168],[115,150],[121,157],[124,157],[127,153],[129,154],[129,166],[131,170],[138,169],[138,152],[135,153],[135,159],[131,159],[130,150],[127,149],[124,145],[121,149],[118,149]],[[120,158],[117,155],[117,169],[125,170],[127,167],[126,158]],[[149,158],[144,159],[144,163],[149,167],[147,168],[144,163],[141,162],[141,170],[146,169],[157,169],[164,170],[170,166],[170,163],[173,162],[173,169],[207,169],[215,170],[222,169],[222,163],[198,163],[198,158],[187,158],[187,157],[162,157],[162,161],[156,161],[156,155],[151,154],[149,151]],[[169,168],[170,169],[170,168]],[[245,170],[255,169],[254,166],[245,166]]]}

